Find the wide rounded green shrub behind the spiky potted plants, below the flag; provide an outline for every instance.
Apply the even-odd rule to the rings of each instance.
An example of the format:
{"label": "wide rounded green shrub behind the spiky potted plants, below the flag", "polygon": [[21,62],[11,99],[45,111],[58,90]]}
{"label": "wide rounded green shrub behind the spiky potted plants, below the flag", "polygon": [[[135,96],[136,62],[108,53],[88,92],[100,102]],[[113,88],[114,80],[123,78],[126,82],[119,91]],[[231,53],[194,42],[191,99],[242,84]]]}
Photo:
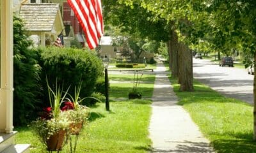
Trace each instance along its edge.
{"label": "wide rounded green shrub behind the spiky potted plants, below the flag", "polygon": [[49,84],[56,84],[57,79],[59,84],[63,84],[63,89],[70,86],[69,91],[75,91],[74,88],[82,82],[81,98],[87,97],[92,94],[97,78],[103,75],[102,62],[91,51],[49,47],[43,48],[41,52],[44,91],[47,91],[47,76]]}

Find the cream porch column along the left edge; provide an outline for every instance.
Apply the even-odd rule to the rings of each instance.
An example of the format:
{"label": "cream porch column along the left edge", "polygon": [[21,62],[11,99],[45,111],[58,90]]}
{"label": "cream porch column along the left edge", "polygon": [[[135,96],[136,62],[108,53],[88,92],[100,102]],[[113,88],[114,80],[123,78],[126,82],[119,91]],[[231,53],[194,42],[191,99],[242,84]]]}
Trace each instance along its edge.
{"label": "cream porch column along the left edge", "polygon": [[0,132],[13,131],[13,10],[1,0]]}

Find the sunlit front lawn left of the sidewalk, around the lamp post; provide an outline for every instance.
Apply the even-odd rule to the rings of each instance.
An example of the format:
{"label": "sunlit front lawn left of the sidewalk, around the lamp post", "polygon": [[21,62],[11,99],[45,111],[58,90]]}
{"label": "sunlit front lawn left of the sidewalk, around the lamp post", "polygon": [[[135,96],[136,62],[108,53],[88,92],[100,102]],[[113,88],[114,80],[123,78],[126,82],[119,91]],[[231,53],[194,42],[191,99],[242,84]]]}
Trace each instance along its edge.
{"label": "sunlit front lawn left of the sidewalk, around the lamp post", "polygon": [[[131,78],[133,80],[133,75],[109,75],[109,80],[118,80],[118,78],[129,82]],[[150,98],[154,75],[143,75],[142,80],[147,80],[147,84],[139,86],[147,91],[143,91],[143,97]],[[127,99],[125,92],[131,87],[131,83],[125,85],[120,85],[118,82],[111,83],[109,96],[114,100],[115,97]],[[105,110],[104,103],[97,103],[97,106],[90,108],[89,124],[79,136],[76,152],[148,152],[152,143],[148,138],[151,103],[150,99],[111,101],[110,112]],[[16,143],[30,143],[31,153],[47,152],[28,127],[19,127],[15,130],[19,131]],[[68,152],[68,145],[65,145],[62,152]]]}

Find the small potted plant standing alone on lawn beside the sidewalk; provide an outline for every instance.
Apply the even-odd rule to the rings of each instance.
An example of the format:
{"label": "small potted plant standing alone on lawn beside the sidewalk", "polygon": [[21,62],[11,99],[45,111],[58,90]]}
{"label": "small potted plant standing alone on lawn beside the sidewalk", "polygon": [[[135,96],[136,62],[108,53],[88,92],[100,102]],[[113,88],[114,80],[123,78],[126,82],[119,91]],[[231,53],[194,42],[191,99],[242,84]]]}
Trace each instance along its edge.
{"label": "small potted plant standing alone on lawn beside the sidewalk", "polygon": [[134,78],[133,78],[133,87],[132,90],[128,94],[129,99],[141,99],[142,98],[142,93],[138,89],[138,86],[140,85],[140,80],[141,77],[143,76],[143,73],[141,73],[140,77],[136,71],[134,71]]}

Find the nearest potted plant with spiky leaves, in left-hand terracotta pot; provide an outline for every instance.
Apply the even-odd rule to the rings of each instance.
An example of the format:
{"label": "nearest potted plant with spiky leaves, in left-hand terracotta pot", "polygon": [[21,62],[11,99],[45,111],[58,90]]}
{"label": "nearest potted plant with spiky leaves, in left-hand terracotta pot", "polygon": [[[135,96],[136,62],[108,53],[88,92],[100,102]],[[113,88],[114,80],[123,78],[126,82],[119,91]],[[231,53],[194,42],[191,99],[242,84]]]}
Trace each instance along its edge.
{"label": "nearest potted plant with spiky leaves, in left-hand terracotta pot", "polygon": [[[40,140],[47,146],[47,150],[61,150],[67,138],[67,129],[70,120],[66,112],[61,112],[60,106],[64,102],[67,91],[63,90],[56,83],[56,91],[53,91],[47,82],[49,102],[51,107],[45,108],[41,117],[31,123],[31,128],[39,136]],[[68,88],[69,89],[69,88]]]}

